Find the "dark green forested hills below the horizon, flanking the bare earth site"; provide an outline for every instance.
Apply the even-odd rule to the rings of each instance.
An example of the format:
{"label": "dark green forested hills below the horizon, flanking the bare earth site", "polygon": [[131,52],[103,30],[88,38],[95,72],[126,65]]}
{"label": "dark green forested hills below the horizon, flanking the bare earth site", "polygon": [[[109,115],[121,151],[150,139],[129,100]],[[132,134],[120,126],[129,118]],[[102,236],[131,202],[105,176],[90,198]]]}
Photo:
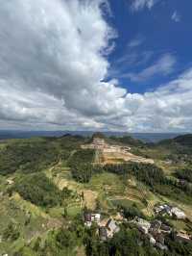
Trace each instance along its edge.
{"label": "dark green forested hills below the horizon, flanking the bare earth site", "polygon": [[[160,141],[157,144],[150,145],[132,137],[105,137],[102,134],[95,134],[100,136],[105,141],[111,144],[120,143],[132,147],[134,153],[153,158],[154,151],[157,150],[156,157],[163,155],[164,149],[169,152],[166,155],[171,159],[179,159],[180,156],[184,161],[191,158],[192,153],[192,135],[179,136],[173,140]],[[0,173],[12,173],[15,170],[22,170],[33,172],[43,169],[47,166],[56,164],[60,159],[67,160],[73,150],[81,148],[83,143],[90,141],[79,135],[72,136],[66,134],[60,138],[34,138],[25,140],[8,140],[0,143]],[[159,150],[159,149],[160,150]],[[149,155],[148,155],[149,153]],[[178,157],[179,155],[179,157]],[[186,156],[187,155],[187,156]]]}

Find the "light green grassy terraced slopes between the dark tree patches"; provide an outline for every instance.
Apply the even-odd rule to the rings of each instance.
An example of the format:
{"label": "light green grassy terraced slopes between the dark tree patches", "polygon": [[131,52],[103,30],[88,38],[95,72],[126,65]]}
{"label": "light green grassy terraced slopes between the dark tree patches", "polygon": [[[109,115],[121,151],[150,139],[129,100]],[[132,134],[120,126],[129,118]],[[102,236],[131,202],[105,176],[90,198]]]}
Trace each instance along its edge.
{"label": "light green grassy terraced slopes between the dark tree patches", "polygon": [[[28,142],[42,142],[41,140],[44,139],[33,139]],[[14,142],[15,141],[13,140],[8,143]],[[23,143],[26,142],[26,140],[16,140],[16,143],[18,142]],[[68,187],[70,190],[77,192],[77,198],[67,202],[67,215],[69,219],[80,213],[84,204],[88,204],[94,208],[96,203],[99,203],[102,210],[111,215],[117,203],[121,203],[122,205],[132,205],[132,202],[135,202],[138,208],[148,217],[152,216],[151,208],[156,202],[169,202],[171,204],[178,205],[181,209],[185,210],[189,218],[192,218],[191,206],[183,205],[179,202],[174,202],[169,198],[154,194],[143,184],[136,182],[132,177],[125,181],[115,174],[102,173],[94,175],[88,184],[84,185],[75,182],[71,177],[70,169],[67,167],[67,159],[80,148],[80,145],[84,140],[82,138],[64,137],[57,140],[52,139],[52,141],[50,139],[49,142],[57,147],[62,155],[60,157],[60,162],[54,163],[53,166],[50,165],[46,167],[44,172],[60,189]],[[0,149],[4,150],[5,146],[5,142],[1,143]],[[172,152],[172,149],[164,147],[163,145],[158,145],[154,148],[138,148],[135,146],[133,149],[138,150],[141,155],[146,154],[149,157],[155,158],[156,165],[161,166],[165,170],[166,175],[172,175],[175,166],[169,166],[163,161],[166,156]],[[69,154],[67,154],[66,151],[68,151]],[[16,175],[19,175],[19,173],[13,173],[11,177]],[[5,191],[8,186],[6,185],[7,177],[0,176],[1,191]],[[78,196],[81,192],[87,193],[84,202],[82,202]],[[148,207],[143,204],[143,197],[148,200]],[[32,214],[32,219],[27,226],[24,224],[26,220],[26,212],[30,212]],[[10,199],[6,196],[2,197],[0,205],[0,230],[2,231],[10,221],[14,221],[16,223],[20,223],[19,228],[22,235],[15,243],[0,243],[0,253],[10,253],[15,248],[22,246],[24,242],[32,241],[37,235],[46,237],[48,230],[53,228],[53,222],[56,222],[56,225],[60,226],[62,214],[63,209],[60,207],[52,208],[45,213],[44,210],[23,200],[18,195],[14,195]],[[59,221],[57,222],[56,219]],[[185,227],[182,221],[173,221],[173,224],[176,227]]]}

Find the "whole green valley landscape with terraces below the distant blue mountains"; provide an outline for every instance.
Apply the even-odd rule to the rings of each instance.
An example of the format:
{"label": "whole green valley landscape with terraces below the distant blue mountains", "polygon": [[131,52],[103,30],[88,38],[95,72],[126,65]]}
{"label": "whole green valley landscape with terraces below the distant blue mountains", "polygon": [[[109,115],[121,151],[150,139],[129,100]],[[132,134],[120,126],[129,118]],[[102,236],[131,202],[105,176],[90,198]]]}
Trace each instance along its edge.
{"label": "whole green valley landscape with terraces below the distant blue mountains", "polygon": [[[184,139],[180,144],[162,141],[152,145],[96,134],[92,138],[67,135],[4,141],[0,149],[0,253],[91,255],[93,246],[100,246],[104,253],[102,250],[124,233],[137,237],[143,244],[137,250],[144,255],[151,255],[149,251],[155,253],[152,255],[173,255],[179,236],[180,241],[182,236],[188,238],[187,243],[180,242],[188,253],[191,182],[177,177],[177,169],[191,167],[191,145],[183,145]],[[184,154],[180,153],[183,150]],[[184,218],[166,212],[156,215],[156,207],[164,205],[178,208]],[[99,215],[100,220],[93,218],[85,224],[85,213]],[[150,243],[154,240],[148,237],[155,239],[156,235],[150,229],[143,233],[138,218],[148,221],[149,226],[155,220],[166,224],[175,234],[174,240],[169,233],[162,233],[163,242]],[[118,232],[108,229],[109,220]],[[63,237],[60,244],[59,236],[66,233],[76,243],[65,245]],[[130,243],[134,243],[132,238]]]}

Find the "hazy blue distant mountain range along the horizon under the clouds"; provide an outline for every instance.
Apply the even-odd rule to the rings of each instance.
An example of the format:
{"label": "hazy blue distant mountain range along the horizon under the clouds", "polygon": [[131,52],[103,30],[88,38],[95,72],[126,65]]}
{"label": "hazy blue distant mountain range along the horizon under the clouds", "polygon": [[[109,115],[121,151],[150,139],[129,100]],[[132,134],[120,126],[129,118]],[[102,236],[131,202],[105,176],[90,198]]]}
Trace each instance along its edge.
{"label": "hazy blue distant mountain range along the horizon under the clouds", "polygon": [[[93,131],[19,131],[19,130],[0,130],[0,140],[8,139],[27,139],[33,137],[61,137],[65,134],[92,136]],[[180,134],[177,133],[121,133],[103,132],[106,136],[126,136],[145,142],[158,142],[162,140],[174,139]]]}

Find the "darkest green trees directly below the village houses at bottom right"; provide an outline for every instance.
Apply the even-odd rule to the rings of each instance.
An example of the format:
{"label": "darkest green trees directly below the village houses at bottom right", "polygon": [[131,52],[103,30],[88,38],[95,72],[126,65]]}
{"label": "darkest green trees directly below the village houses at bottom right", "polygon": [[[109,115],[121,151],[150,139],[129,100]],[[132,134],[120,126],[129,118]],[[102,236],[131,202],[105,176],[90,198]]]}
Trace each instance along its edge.
{"label": "darkest green trees directly below the village houses at bottom right", "polygon": [[187,256],[191,255],[192,251],[192,243],[179,243],[174,233],[165,237],[165,243],[168,246],[167,251],[156,249],[133,225],[128,223],[124,223],[120,232],[105,243],[99,241],[95,235],[94,227],[87,230],[86,234],[84,245],[88,256]]}

